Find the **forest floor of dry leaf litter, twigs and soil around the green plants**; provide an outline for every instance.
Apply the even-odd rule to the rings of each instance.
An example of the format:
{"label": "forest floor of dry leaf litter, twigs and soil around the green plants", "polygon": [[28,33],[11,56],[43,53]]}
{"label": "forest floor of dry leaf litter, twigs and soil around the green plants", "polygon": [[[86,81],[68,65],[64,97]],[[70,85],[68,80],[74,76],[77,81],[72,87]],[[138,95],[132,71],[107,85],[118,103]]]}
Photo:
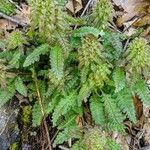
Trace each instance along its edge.
{"label": "forest floor of dry leaf litter, twigs and soil around the green plants", "polygon": [[[72,16],[84,16],[87,12],[91,11],[91,7],[95,1],[96,0],[68,0],[64,7]],[[30,25],[29,16],[31,8],[27,2],[25,0],[10,0],[9,2],[14,5],[14,10],[7,11],[6,8],[5,12],[1,11],[2,8],[0,5],[0,32],[5,33],[5,35],[10,34],[14,30],[22,30]],[[112,0],[111,3],[114,8],[114,14],[113,21],[109,23],[109,27],[116,33],[122,33],[128,36],[132,36],[138,30],[141,30],[142,34],[140,36],[150,42],[150,0]],[[0,39],[3,38],[5,37],[0,36]],[[128,42],[129,41],[124,43],[124,47],[128,45]],[[147,83],[150,85],[150,80]],[[24,144],[22,149],[34,150],[38,145],[46,141],[43,132],[44,125],[42,124],[40,129],[36,128],[38,136],[34,136],[34,134],[36,134],[34,128],[26,128],[21,125],[20,122],[19,127],[15,125],[15,132],[13,134],[10,133],[10,125],[12,126],[12,124],[16,124],[16,122],[18,124],[22,107],[27,106],[26,108],[30,111],[28,100],[20,95],[16,95],[16,97],[0,110],[0,150],[7,150],[10,143],[13,143],[17,136],[20,135],[20,132],[22,132],[22,135],[28,136],[26,134],[27,130],[30,130],[30,135],[32,135],[30,136],[30,144]],[[126,121],[125,124],[128,127],[128,134],[120,135],[114,133],[112,137],[122,145],[123,150],[150,150],[150,108],[143,105],[138,98],[136,98],[134,102],[138,122],[132,124],[130,121]],[[49,120],[47,120],[47,122],[49,122]],[[54,131],[53,134],[57,133]],[[55,135],[53,136],[53,138],[55,138]],[[13,144],[10,149],[17,150],[15,144]],[[60,146],[59,149],[68,150],[65,145]]]}

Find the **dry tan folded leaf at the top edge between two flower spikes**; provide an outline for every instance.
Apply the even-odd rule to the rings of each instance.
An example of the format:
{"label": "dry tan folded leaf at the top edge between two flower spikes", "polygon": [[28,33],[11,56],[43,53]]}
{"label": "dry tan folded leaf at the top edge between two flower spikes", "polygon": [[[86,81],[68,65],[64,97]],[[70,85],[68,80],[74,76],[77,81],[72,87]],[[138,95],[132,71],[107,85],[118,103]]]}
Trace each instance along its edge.
{"label": "dry tan folded leaf at the top edge between two flower spikes", "polygon": [[66,4],[66,8],[73,14],[76,14],[78,11],[80,11],[82,6],[81,0],[69,0]]}

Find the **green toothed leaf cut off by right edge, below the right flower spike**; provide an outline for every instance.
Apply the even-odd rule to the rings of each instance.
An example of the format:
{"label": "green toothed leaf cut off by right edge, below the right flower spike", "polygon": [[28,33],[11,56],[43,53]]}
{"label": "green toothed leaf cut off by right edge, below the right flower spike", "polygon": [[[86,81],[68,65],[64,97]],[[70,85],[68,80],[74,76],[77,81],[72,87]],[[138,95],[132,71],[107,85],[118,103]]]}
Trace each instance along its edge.
{"label": "green toothed leaf cut off by right edge, below the right flower spike", "polygon": [[132,90],[135,95],[137,94],[139,96],[139,98],[145,105],[150,106],[150,91],[144,80],[138,80],[132,86]]}

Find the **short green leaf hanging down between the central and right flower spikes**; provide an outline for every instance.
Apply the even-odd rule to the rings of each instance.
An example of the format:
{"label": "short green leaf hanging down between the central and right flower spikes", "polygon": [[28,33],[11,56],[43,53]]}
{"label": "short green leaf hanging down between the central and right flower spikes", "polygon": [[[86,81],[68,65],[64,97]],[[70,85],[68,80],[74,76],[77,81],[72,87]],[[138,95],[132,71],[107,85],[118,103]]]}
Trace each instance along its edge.
{"label": "short green leaf hanging down between the central and right flower spikes", "polygon": [[125,72],[122,68],[117,67],[113,72],[113,80],[115,83],[115,93],[121,91],[125,87]]}

